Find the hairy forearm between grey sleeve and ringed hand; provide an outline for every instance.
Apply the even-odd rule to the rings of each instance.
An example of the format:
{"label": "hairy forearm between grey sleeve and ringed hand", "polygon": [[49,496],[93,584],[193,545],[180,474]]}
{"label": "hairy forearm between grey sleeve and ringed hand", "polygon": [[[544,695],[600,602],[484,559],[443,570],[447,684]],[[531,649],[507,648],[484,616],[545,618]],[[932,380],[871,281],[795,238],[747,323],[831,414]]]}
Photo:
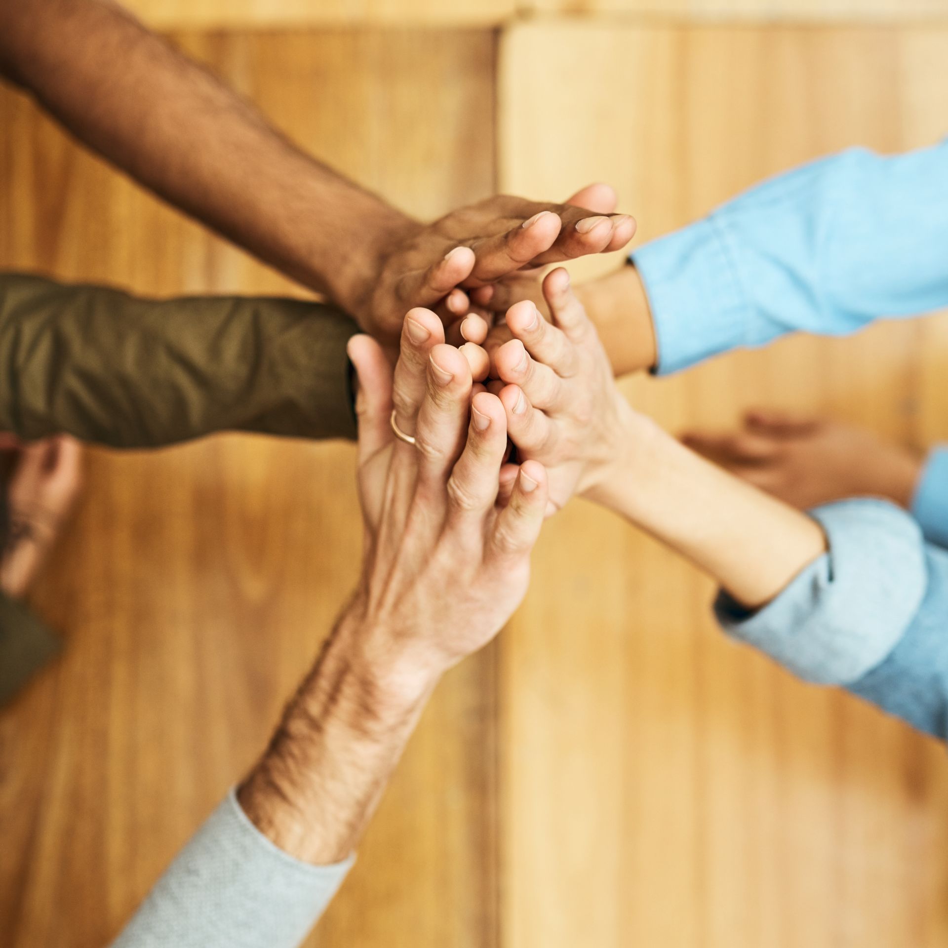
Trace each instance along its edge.
{"label": "hairy forearm between grey sleeve and ringed hand", "polygon": [[348,611],[239,790],[254,825],[303,862],[356,848],[437,682],[401,675],[393,649]]}

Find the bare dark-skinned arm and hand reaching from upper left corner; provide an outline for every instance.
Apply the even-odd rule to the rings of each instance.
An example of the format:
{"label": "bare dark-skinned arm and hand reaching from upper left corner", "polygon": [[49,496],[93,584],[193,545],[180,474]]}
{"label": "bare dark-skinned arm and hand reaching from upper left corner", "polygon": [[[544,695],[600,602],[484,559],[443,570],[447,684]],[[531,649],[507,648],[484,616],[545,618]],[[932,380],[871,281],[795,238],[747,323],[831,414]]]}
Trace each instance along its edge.
{"label": "bare dark-skinned arm and hand reaching from upper left corner", "polygon": [[392,340],[411,305],[534,259],[617,249],[634,231],[623,215],[517,198],[422,225],[305,155],[110,0],[4,0],[0,73],[141,184]]}

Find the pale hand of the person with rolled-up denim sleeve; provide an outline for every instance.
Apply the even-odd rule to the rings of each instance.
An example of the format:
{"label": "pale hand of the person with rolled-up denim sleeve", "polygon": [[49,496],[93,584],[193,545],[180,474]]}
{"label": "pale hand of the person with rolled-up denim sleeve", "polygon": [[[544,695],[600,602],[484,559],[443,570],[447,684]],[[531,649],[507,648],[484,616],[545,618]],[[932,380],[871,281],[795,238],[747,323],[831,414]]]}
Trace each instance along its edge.
{"label": "pale hand of the person with rolled-up denim sleeve", "polygon": [[[615,388],[609,357],[570,288],[569,274],[554,270],[542,288],[554,324],[533,302],[512,306],[506,316],[512,338],[489,353],[500,381],[488,389],[501,399],[520,459],[547,468],[553,512],[607,476],[628,444],[632,411]],[[468,317],[462,332],[483,341],[486,323]],[[515,474],[515,465],[501,471],[504,488]]]}

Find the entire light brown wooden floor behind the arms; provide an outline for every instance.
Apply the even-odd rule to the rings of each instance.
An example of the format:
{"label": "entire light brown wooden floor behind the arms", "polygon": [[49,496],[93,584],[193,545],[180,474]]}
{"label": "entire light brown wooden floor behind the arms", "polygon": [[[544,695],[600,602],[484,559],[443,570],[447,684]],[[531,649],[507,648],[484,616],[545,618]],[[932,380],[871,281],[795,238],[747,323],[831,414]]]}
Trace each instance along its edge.
{"label": "entire light brown wooden floor behind the arms", "polygon": [[[681,0],[661,22],[645,0],[537,7],[137,0],[307,148],[426,216],[606,179],[648,237],[814,155],[946,131],[943,0]],[[785,22],[800,10],[812,22]],[[295,292],[9,91],[0,130],[0,265]],[[626,384],[672,428],[775,403],[924,445],[948,437],[946,367],[936,318]],[[104,944],[258,752],[355,579],[353,464],[229,436],[90,452],[36,593],[68,649],[0,714],[3,944]],[[524,607],[439,689],[308,943],[945,944],[943,747],[728,645],[711,594],[587,504],[551,522]]]}

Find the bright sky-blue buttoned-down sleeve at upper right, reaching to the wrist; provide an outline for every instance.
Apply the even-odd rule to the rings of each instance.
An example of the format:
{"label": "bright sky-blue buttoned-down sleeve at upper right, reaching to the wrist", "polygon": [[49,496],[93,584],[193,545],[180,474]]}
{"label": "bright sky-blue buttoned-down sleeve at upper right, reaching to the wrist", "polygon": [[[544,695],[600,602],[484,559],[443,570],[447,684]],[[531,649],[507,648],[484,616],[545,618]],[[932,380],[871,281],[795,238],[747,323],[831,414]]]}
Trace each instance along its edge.
{"label": "bright sky-blue buttoned-down sleeve at upper right, reaching to the wrist", "polygon": [[661,373],[802,330],[948,305],[948,140],[850,149],[777,175],[632,255]]}

